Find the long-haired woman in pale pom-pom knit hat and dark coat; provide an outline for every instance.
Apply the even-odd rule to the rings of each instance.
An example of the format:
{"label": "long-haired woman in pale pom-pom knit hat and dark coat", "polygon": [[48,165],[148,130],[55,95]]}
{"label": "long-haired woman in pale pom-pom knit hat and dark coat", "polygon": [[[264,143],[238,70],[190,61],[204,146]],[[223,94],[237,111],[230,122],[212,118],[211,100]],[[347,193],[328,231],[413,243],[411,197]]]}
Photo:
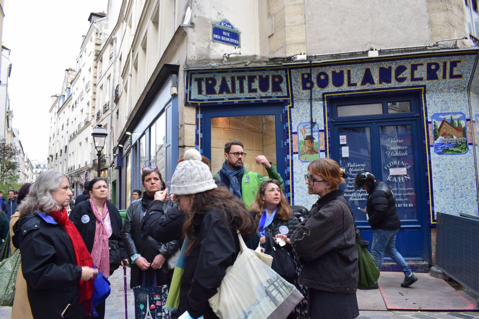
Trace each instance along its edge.
{"label": "long-haired woman in pale pom-pom knit hat and dark coat", "polygon": [[[257,228],[244,204],[228,189],[216,185],[209,167],[190,158],[185,156],[177,165],[171,184],[184,223],[178,222],[182,220],[178,216],[168,216],[169,211],[164,214],[163,201],[168,194],[165,190],[155,193],[147,211],[146,228],[158,240],[171,239],[171,234],[179,234],[183,228],[185,243],[178,262],[183,273],[176,277],[175,270],[167,306],[179,309],[179,314],[185,316],[182,318],[216,319],[208,299],[217,293],[226,269],[240,252],[237,230],[250,237]],[[179,303],[170,304],[170,297],[178,294]]]}

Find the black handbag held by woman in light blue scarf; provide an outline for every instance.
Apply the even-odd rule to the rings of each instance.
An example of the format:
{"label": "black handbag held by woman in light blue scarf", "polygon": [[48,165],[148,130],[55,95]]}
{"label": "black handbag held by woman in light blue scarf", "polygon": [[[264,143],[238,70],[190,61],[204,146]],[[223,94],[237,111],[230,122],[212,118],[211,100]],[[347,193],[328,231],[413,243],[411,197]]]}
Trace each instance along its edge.
{"label": "black handbag held by woman in light blue scarf", "polygon": [[265,239],[266,248],[264,253],[273,257],[271,268],[283,278],[296,277],[293,252],[288,249],[290,247],[275,245],[273,234],[269,231],[266,231]]}

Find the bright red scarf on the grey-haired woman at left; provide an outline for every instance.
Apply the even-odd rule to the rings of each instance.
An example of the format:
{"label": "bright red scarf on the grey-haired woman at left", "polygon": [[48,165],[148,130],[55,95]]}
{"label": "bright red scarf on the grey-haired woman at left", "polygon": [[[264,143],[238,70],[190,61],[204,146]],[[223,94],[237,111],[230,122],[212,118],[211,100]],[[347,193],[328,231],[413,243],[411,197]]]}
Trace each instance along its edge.
{"label": "bright red scarf on the grey-haired woman at left", "polygon": [[[53,219],[63,226],[66,233],[70,237],[71,244],[73,245],[73,251],[75,252],[76,264],[80,267],[88,266],[93,268],[93,260],[91,255],[86,249],[85,242],[81,238],[80,233],[76,229],[75,225],[68,218],[66,209],[55,210],[49,213]],[[85,313],[88,315],[91,313],[93,304],[91,298],[93,297],[93,278],[89,281],[83,281],[80,279],[79,283],[79,295],[80,304],[85,307]]]}

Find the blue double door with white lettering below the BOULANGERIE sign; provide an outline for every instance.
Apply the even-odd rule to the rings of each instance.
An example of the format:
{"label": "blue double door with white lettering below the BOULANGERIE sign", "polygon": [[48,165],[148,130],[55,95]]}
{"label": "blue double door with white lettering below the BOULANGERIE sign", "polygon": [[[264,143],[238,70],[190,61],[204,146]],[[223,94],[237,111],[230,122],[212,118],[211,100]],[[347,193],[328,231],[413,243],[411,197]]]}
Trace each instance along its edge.
{"label": "blue double door with white lettering below the BOULANGERIE sign", "polygon": [[354,190],[356,174],[364,169],[387,183],[395,195],[396,210],[401,219],[396,240],[398,251],[406,260],[427,262],[424,158],[422,140],[418,138],[421,136],[418,120],[348,122],[332,125],[332,158],[348,175],[340,187],[362,236],[369,241],[372,239],[367,215],[360,210],[366,207],[368,194],[362,189]]}

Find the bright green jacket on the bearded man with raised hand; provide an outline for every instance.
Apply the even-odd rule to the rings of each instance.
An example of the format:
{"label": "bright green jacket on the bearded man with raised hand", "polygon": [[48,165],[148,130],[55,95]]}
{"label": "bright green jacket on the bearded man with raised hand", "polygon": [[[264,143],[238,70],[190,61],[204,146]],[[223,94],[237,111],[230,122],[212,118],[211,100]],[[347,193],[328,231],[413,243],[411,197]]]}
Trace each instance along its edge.
{"label": "bright green jacket on the bearded man with raised hand", "polygon": [[[266,171],[268,172],[268,177],[265,177],[254,171],[249,171],[247,169],[244,169],[244,174],[243,174],[243,177],[241,178],[241,197],[247,209],[250,208],[251,203],[256,198],[256,193],[259,189],[259,186],[261,186],[261,183],[263,182],[263,180],[267,178],[277,179],[279,180],[279,184],[281,185],[281,188],[284,190],[284,181],[281,175],[276,170],[276,167],[274,167],[274,165],[271,163],[271,167],[266,168]],[[214,174],[213,177],[220,178],[220,172]]]}

